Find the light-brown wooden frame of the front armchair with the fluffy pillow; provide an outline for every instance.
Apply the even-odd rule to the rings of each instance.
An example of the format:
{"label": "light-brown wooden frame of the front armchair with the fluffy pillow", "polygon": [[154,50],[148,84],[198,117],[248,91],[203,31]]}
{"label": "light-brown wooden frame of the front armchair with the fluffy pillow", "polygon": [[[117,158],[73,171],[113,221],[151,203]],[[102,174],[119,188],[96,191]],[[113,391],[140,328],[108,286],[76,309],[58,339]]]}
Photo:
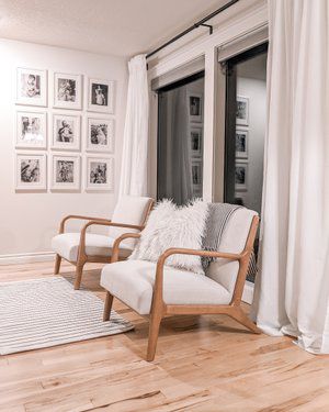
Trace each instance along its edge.
{"label": "light-brown wooden frame of the front armchair with the fluffy pillow", "polygon": [[[253,333],[261,333],[256,324],[248,318],[241,308],[241,298],[243,293],[243,287],[248,272],[250,255],[252,253],[253,242],[256,238],[257,230],[259,224],[259,218],[254,216],[250,226],[246,246],[242,253],[231,254],[222,252],[211,250],[195,250],[188,248],[169,248],[167,249],[157,261],[156,269],[156,281],[154,288],[152,303],[150,310],[150,325],[148,335],[148,347],[147,347],[147,360],[151,361],[156,355],[158,335],[160,323],[163,316],[171,314],[226,314],[237,322],[252,331]],[[113,245],[112,263],[118,259],[118,247],[120,243],[128,237],[138,238],[139,233],[126,233],[118,237]],[[163,302],[163,266],[166,259],[171,255],[196,255],[196,256],[208,256],[214,258],[225,258],[230,260],[239,261],[239,271],[232,293],[232,298],[229,304],[166,304]],[[111,308],[113,303],[113,296],[106,291],[105,307],[103,320],[109,321],[111,314]]]}

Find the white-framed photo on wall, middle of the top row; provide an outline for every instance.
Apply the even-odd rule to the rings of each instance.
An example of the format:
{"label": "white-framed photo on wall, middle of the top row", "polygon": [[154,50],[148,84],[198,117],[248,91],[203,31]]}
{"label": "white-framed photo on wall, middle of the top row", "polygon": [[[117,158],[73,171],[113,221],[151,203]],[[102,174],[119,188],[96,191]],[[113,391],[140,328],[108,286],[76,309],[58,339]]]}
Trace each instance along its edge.
{"label": "white-framed photo on wall, middle of the top row", "polygon": [[54,108],[82,109],[82,76],[54,73]]}

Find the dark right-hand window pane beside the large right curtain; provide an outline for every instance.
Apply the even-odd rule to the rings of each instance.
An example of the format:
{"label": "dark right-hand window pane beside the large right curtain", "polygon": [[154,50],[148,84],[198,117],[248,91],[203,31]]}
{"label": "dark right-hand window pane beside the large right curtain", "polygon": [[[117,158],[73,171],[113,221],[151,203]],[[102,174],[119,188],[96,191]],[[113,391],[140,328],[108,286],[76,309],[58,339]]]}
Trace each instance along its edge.
{"label": "dark right-hand window pane beside the large right curtain", "polygon": [[227,60],[226,66],[224,200],[259,214],[266,126],[266,57],[268,44],[263,44]]}

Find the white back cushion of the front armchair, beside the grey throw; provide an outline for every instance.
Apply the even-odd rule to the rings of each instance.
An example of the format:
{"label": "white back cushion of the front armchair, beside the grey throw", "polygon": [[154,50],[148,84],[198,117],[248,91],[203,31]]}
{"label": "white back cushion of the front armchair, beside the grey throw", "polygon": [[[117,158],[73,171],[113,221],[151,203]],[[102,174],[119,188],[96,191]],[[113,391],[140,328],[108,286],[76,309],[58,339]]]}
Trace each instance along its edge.
{"label": "white back cushion of the front armchair, beside the grey throw", "polygon": [[[226,223],[220,238],[219,252],[241,253],[246,246],[252,218],[256,215],[257,212],[253,210],[237,209]],[[211,263],[206,275],[232,293],[238,271],[238,261],[216,259]]]}

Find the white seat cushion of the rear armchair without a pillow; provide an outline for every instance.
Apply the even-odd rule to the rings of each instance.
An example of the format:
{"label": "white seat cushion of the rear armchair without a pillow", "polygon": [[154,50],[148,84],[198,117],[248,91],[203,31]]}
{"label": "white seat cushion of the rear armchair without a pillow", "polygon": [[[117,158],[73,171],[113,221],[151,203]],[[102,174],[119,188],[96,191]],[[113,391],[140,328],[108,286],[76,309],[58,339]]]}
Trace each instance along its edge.
{"label": "white seat cushion of the rear armchair without a pillow", "polygon": [[[86,253],[89,256],[111,256],[114,238],[93,233],[86,234]],[[63,233],[52,240],[52,248],[69,261],[77,261],[80,233]],[[121,243],[120,257],[128,257],[133,250]]]}

